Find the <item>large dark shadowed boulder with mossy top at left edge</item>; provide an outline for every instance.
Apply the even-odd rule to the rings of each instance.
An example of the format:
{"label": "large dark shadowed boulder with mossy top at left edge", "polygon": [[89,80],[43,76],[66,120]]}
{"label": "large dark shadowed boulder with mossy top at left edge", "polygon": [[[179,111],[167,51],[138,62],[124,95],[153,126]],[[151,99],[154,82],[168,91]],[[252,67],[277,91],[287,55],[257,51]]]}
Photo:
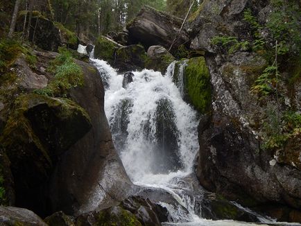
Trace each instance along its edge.
{"label": "large dark shadowed boulder with mossy top at left edge", "polygon": [[13,163],[17,205],[35,209],[33,197],[53,164],[90,128],[85,110],[68,99],[25,94],[15,100],[0,143]]}

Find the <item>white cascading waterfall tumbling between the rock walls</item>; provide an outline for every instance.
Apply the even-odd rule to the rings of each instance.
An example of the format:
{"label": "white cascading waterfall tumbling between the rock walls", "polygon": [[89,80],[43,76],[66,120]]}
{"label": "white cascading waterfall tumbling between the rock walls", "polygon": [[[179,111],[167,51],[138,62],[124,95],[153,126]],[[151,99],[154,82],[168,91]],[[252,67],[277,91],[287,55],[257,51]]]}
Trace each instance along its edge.
{"label": "white cascading waterfall tumbling between the rock walls", "polygon": [[[198,115],[182,100],[186,62],[180,65],[177,85],[173,83],[175,62],[165,76],[144,69],[128,73],[128,82],[107,62],[92,62],[101,73],[105,113],[132,182],[150,191],[165,191],[175,200],[173,204],[160,201],[169,211],[169,223],[164,225],[254,225],[200,218],[203,191],[192,173]],[[259,220],[272,222],[261,216]]]}

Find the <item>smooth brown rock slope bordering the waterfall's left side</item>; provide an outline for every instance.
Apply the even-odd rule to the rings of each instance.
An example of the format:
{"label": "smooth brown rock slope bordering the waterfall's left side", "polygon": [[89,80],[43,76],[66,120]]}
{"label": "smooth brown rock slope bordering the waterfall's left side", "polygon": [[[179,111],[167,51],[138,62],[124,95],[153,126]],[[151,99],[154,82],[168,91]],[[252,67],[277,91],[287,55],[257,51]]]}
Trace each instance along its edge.
{"label": "smooth brown rock slope bordering the waterfall's left side", "polygon": [[78,64],[87,75],[85,86],[73,89],[70,95],[89,114],[92,130],[69,148],[53,173],[49,198],[53,210],[66,214],[80,214],[122,200],[132,186],[112,143],[101,77],[94,67]]}

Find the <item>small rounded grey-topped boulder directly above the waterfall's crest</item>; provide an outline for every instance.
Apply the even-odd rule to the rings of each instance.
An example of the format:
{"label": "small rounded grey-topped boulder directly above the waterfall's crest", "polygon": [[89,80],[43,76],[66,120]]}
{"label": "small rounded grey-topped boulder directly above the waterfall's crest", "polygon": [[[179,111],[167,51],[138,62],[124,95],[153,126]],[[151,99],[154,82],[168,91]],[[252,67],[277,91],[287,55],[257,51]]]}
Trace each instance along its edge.
{"label": "small rounded grey-topped boulder directly above the waterfall's crest", "polygon": [[175,60],[163,46],[150,46],[147,51],[150,60],[146,62],[146,68],[165,73],[169,64]]}

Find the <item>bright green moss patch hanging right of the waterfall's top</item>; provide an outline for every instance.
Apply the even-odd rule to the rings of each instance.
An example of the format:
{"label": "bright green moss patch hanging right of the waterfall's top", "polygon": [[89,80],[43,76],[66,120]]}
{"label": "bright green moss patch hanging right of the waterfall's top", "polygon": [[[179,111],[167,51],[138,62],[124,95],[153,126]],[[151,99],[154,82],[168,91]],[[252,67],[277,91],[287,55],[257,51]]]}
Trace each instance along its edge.
{"label": "bright green moss patch hanging right of the waterfall's top", "polygon": [[211,85],[205,58],[191,58],[184,69],[184,84],[191,104],[201,114],[209,110]]}

